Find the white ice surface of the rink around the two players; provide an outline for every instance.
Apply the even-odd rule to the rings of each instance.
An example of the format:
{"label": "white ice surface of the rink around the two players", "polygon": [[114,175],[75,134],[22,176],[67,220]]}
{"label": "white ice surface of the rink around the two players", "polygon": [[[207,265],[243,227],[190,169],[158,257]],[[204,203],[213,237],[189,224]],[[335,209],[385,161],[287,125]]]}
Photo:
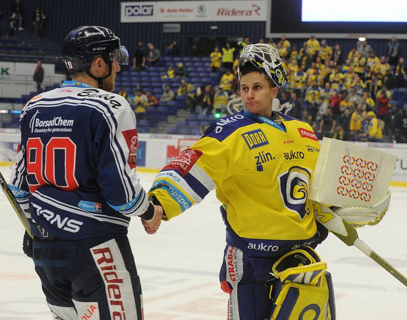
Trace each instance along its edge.
{"label": "white ice surface of the rink around the two players", "polygon": [[[9,168],[0,169],[8,179]],[[155,174],[139,175],[144,188],[150,188]],[[391,191],[384,220],[358,233],[407,276],[407,188]],[[33,261],[21,250],[23,227],[3,193],[0,208],[0,319],[50,319]],[[214,192],[180,217],[163,222],[153,236],[132,218],[129,239],[147,320],[226,318],[228,296],[218,280],[225,232]],[[333,277],[338,320],[407,319],[407,288],[357,248],[330,235],[317,252]]]}

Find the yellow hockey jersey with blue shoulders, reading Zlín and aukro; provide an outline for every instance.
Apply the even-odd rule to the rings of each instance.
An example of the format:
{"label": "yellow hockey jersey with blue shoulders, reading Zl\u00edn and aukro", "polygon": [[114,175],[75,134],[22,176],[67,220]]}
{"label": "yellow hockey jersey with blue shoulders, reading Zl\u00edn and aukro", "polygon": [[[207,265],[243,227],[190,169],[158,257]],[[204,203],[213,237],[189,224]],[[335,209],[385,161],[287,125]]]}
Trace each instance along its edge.
{"label": "yellow hockey jersey with blue shoulders, reading Zl\u00edn and aukro", "polygon": [[250,254],[280,256],[319,239],[308,199],[318,152],[307,123],[244,109],[214,121],[162,168],[149,195],[169,220],[216,189],[226,242]]}

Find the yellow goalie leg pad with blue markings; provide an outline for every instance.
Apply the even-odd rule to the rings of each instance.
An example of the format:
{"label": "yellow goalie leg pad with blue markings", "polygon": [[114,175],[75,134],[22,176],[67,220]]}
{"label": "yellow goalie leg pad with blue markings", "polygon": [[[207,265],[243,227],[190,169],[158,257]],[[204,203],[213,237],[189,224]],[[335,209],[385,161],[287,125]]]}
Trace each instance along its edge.
{"label": "yellow goalie leg pad with blue markings", "polygon": [[[334,320],[335,304],[327,264],[310,247],[293,250],[273,265],[270,320]],[[331,297],[330,297],[331,295]]]}

